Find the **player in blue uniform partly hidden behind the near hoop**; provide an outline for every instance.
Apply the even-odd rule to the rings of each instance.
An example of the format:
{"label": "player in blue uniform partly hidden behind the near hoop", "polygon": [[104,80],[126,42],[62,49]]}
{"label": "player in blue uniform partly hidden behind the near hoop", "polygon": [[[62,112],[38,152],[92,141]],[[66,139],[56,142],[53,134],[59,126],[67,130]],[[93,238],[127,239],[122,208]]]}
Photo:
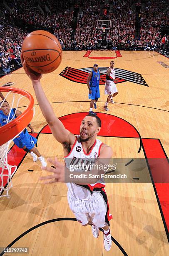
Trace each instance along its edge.
{"label": "player in blue uniform partly hidden behind the near hoop", "polygon": [[[0,102],[1,105],[2,102]],[[19,116],[20,114],[22,114],[22,112],[20,112],[19,110],[16,111],[15,113],[15,108],[12,108],[11,112],[10,112],[10,105],[8,104],[7,101],[5,101],[1,108],[0,108],[0,126],[3,126],[5,124],[7,124],[7,119],[8,119],[8,115],[10,114],[9,117],[9,122],[15,118],[17,118],[17,116]],[[28,124],[27,127],[30,128],[31,132],[34,133],[34,130],[32,128],[31,124]],[[31,136],[27,129],[25,128],[24,131],[22,131],[17,138],[15,138],[13,140],[13,142],[19,147],[19,148],[23,148],[24,151],[29,152],[31,154],[31,156],[33,157],[33,161],[37,161],[37,157],[40,159],[42,166],[46,166],[46,161],[43,158],[43,156],[41,156],[40,152],[37,150],[37,148],[35,148],[35,144],[37,143],[37,139],[34,138],[33,136]]]}

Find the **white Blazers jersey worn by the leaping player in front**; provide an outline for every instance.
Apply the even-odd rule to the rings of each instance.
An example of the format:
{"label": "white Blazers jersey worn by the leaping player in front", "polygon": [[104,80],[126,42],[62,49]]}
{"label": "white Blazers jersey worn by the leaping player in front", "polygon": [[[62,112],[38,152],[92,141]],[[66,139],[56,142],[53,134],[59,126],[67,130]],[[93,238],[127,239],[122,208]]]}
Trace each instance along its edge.
{"label": "white Blazers jersey worn by the leaping player in front", "polygon": [[[97,157],[100,154],[100,148],[102,144],[102,141],[96,139],[90,152],[87,154],[82,147],[82,143],[80,142],[80,135],[78,135],[76,137],[74,145],[71,148],[70,153],[67,156],[65,156],[66,167],[70,169],[70,165],[80,164],[82,163],[82,161],[84,164],[87,165],[90,164],[90,162],[94,163],[94,159],[97,159]],[[91,197],[98,195],[98,188],[101,189],[105,187],[105,184],[102,180],[102,182],[99,181],[98,183],[88,185],[77,185],[75,183],[67,183],[67,187],[69,189],[70,194],[76,199],[90,200]],[[97,191],[94,191],[94,188],[97,188]]]}

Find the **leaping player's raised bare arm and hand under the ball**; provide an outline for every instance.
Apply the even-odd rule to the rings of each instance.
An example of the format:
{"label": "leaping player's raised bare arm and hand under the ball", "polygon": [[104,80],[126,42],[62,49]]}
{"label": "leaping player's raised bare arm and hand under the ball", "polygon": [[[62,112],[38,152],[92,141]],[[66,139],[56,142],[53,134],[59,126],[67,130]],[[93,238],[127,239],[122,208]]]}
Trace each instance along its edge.
{"label": "leaping player's raised bare arm and hand under the ball", "polygon": [[40,84],[42,74],[36,73],[32,71],[29,67],[27,67],[22,54],[21,61],[25,73],[32,81],[37,102],[40,106],[43,116],[45,117],[47,123],[50,126],[50,130],[52,131],[53,136],[58,142],[62,144],[69,143],[70,145],[72,145],[75,142],[75,135],[70,133],[70,131],[66,130],[62,122],[55,116],[55,113],[50,105],[50,102],[47,100],[47,97]]}

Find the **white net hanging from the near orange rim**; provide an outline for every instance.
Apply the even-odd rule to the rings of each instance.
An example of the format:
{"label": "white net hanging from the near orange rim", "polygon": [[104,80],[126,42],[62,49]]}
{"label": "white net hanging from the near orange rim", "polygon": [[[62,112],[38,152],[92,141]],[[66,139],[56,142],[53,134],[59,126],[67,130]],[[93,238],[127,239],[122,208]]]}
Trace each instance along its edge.
{"label": "white net hanging from the near orange rim", "polygon": [[[4,103],[4,101],[6,100],[7,96],[11,92],[12,91],[7,93],[5,99],[0,104],[0,108],[1,108],[2,104]],[[18,105],[19,105],[19,101],[20,101],[20,99],[22,97],[26,97],[26,96],[21,96],[17,100],[17,107],[16,107],[16,110],[15,110],[15,113],[17,111],[17,108],[18,108]],[[15,93],[13,94],[13,100],[12,100],[12,104],[11,104],[11,108],[10,108],[10,113],[11,113],[12,108],[13,108],[14,100],[15,100]],[[14,119],[14,117],[15,117],[15,115],[14,115],[12,120],[9,121],[10,113],[8,115],[7,123],[11,122]],[[20,133],[18,133],[18,134],[20,134]],[[16,138],[18,136],[18,134],[14,138]],[[17,166],[16,165],[12,166],[12,165],[8,164],[8,162],[7,162],[7,151],[8,151],[10,142],[14,138],[11,138],[10,141],[7,141],[7,143],[5,143],[2,146],[0,146],[0,197],[10,198],[9,189],[12,187],[11,179],[12,179],[12,176],[15,174],[16,170],[17,170]],[[7,178],[7,182],[6,182],[6,178]],[[4,192],[6,192],[6,194]]]}

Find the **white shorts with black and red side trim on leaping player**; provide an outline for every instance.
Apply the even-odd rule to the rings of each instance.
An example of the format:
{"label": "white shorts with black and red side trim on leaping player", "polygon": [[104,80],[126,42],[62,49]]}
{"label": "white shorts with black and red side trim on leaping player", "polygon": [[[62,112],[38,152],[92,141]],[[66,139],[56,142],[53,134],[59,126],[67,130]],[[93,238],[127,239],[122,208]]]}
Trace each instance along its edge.
{"label": "white shorts with black and red side trim on leaping player", "polygon": [[109,203],[105,190],[102,189],[97,193],[98,195],[93,196],[92,200],[78,200],[68,190],[67,199],[77,221],[82,225],[86,225],[91,220],[94,225],[103,228],[109,225],[112,215],[109,214]]}

